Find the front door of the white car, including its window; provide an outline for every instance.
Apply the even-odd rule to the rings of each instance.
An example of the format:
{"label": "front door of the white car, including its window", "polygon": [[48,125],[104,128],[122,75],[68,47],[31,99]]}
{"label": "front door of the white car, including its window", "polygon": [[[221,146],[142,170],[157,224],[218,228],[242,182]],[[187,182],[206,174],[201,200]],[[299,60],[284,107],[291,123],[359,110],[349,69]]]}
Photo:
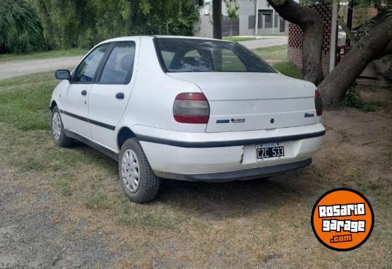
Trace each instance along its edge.
{"label": "front door of the white car, including its window", "polygon": [[93,86],[98,67],[110,44],[96,47],[81,61],[71,76],[71,83],[65,92],[65,105],[61,107],[65,128],[91,138],[88,126],[88,98]]}

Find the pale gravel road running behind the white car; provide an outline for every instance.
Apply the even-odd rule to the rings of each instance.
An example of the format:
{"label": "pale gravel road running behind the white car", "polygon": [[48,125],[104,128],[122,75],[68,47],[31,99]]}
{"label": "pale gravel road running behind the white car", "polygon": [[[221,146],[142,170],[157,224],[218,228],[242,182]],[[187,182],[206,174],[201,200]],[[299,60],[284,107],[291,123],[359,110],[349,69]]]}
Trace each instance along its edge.
{"label": "pale gravel road running behind the white car", "polygon": [[[271,47],[275,45],[287,44],[287,37],[271,37],[259,40],[248,40],[239,42],[248,49],[257,49],[258,47]],[[43,73],[54,71],[61,68],[72,69],[83,56],[59,57],[29,61],[7,61],[0,63],[0,80],[4,78],[13,78],[16,76],[29,75],[32,73]]]}

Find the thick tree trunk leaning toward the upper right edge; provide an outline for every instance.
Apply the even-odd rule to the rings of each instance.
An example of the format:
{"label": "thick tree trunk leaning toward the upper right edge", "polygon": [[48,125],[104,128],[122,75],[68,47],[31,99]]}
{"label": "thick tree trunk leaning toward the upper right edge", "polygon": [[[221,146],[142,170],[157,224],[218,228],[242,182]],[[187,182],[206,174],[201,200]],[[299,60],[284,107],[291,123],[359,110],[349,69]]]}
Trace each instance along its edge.
{"label": "thick tree trunk leaning toward the upper right edge", "polygon": [[374,28],[367,31],[350,49],[343,60],[333,68],[318,86],[323,97],[323,104],[332,107],[344,100],[345,93],[355,79],[360,76],[367,65],[386,54],[391,53],[392,45],[392,17],[381,16]]}

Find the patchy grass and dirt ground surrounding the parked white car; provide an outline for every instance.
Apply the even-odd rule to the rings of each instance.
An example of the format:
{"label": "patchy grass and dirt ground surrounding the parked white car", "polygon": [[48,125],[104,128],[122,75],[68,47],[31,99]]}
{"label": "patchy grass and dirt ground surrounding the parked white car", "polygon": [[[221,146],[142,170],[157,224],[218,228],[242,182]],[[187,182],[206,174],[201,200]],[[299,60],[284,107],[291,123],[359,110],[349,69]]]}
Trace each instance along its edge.
{"label": "patchy grass and dirt ground surrounding the parked white car", "polygon": [[[383,102],[376,112],[324,112],[326,139],[306,169],[222,184],[164,181],[153,203],[136,205],[121,190],[116,162],[81,143],[53,145],[48,106],[57,83],[52,72],[0,80],[1,213],[13,212],[19,221],[44,212],[47,221],[39,218],[33,227],[59,227],[54,237],[37,236],[34,249],[61,240],[99,240],[107,257],[102,263],[83,263],[94,248],[78,251],[88,268],[391,265],[392,127],[391,110],[385,110],[391,108],[390,91],[360,88]],[[348,253],[326,249],[310,225],[317,198],[343,186],[367,196],[376,219],[368,241]],[[23,230],[18,236],[23,238]],[[59,260],[53,259],[42,267]]]}

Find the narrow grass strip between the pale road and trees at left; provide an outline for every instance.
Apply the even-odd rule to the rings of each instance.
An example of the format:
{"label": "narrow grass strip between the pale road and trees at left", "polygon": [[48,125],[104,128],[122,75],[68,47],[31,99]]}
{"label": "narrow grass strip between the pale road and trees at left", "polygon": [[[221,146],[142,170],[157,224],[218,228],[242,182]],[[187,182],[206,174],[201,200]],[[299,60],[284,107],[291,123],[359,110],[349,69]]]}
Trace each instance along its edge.
{"label": "narrow grass strip between the pale road and trees at left", "polygon": [[0,54],[0,63],[4,61],[25,61],[66,56],[79,56],[88,52],[87,49],[62,49],[49,52],[35,52],[31,54]]}

